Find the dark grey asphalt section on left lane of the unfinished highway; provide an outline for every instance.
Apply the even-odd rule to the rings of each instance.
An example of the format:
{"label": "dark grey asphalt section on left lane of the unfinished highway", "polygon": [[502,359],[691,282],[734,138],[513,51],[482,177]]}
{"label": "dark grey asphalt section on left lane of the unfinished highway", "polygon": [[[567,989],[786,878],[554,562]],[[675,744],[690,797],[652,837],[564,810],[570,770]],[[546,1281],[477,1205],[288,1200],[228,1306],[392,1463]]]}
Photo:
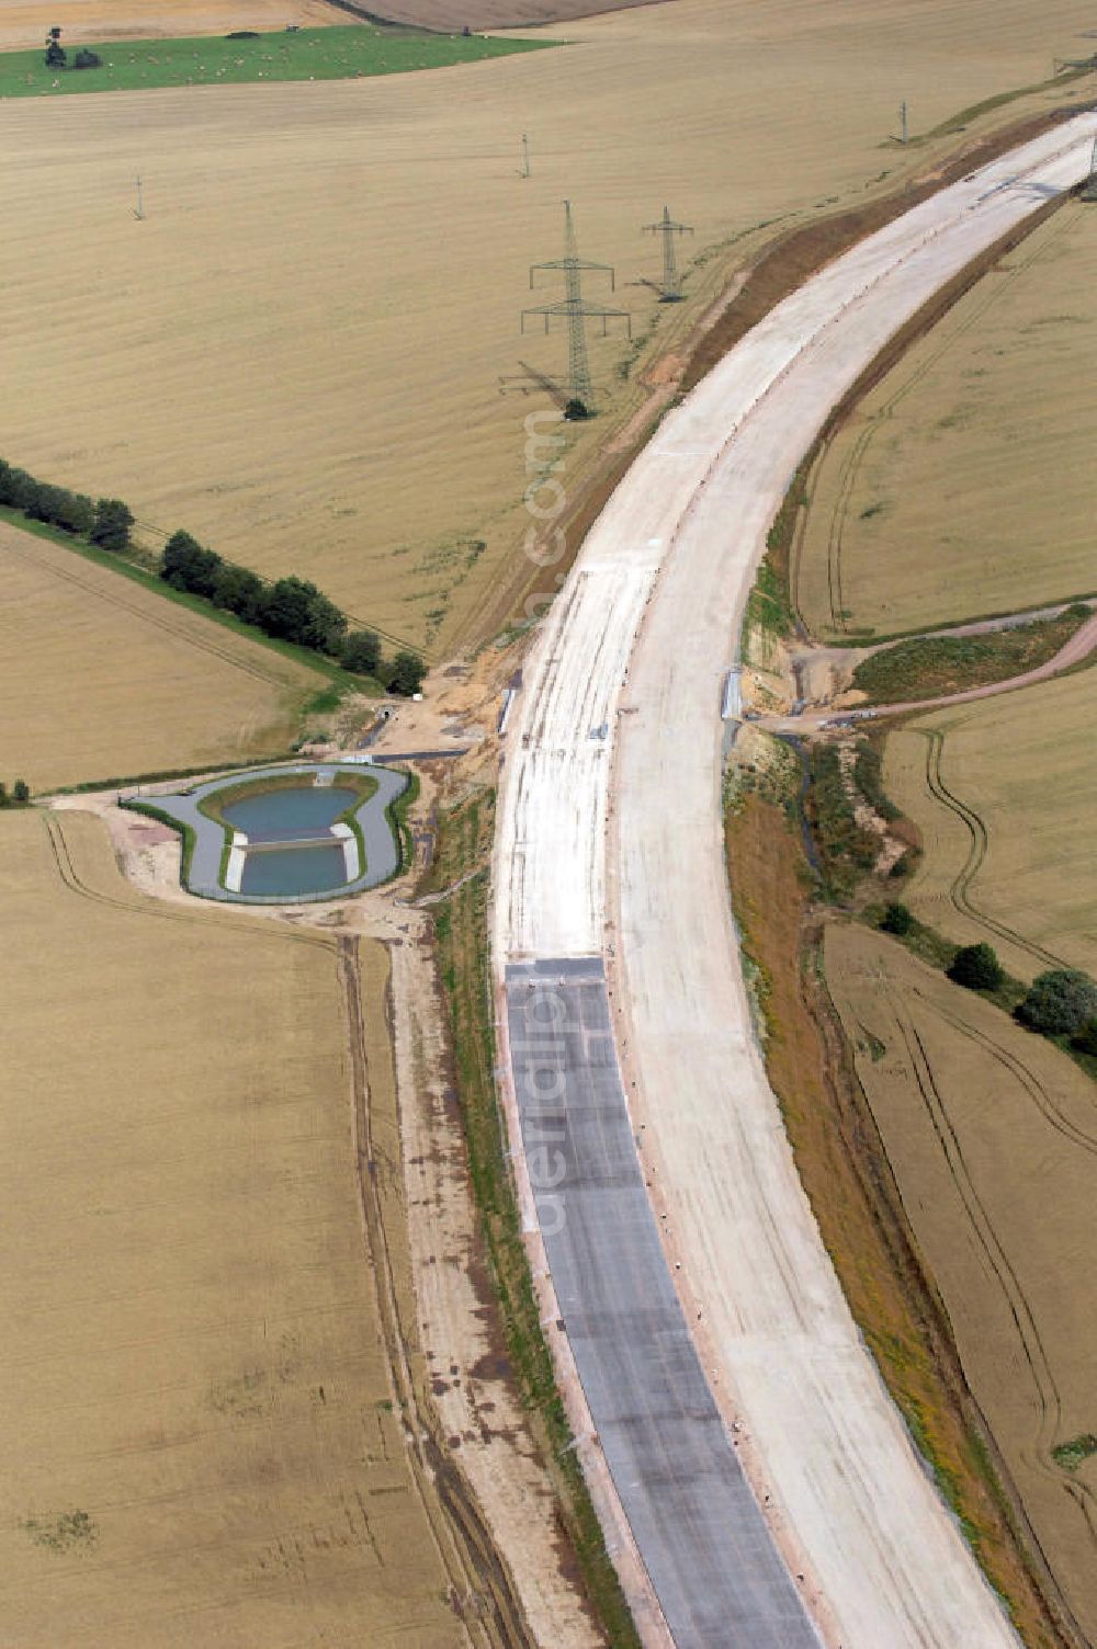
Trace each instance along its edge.
{"label": "dark grey asphalt section on left lane of the unfinished highway", "polygon": [[506,1016],[556,1296],[676,1649],[818,1649],[675,1293],[625,1106],[600,960],[508,966]]}

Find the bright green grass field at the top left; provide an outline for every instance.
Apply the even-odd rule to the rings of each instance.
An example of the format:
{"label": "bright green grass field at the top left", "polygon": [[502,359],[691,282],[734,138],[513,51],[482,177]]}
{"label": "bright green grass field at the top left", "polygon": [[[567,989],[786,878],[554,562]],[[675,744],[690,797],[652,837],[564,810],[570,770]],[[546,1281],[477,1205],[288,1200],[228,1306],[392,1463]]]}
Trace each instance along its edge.
{"label": "bright green grass field at the top left", "polygon": [[[64,38],[61,40],[64,45]],[[254,40],[130,40],[96,45],[102,68],[48,69],[46,53],[0,53],[0,97],[61,97],[66,92],[150,91],[157,86],[242,86],[252,81],[346,81],[480,63],[539,51],[548,40],[485,40],[478,35],[417,35],[412,30],[302,28]]]}

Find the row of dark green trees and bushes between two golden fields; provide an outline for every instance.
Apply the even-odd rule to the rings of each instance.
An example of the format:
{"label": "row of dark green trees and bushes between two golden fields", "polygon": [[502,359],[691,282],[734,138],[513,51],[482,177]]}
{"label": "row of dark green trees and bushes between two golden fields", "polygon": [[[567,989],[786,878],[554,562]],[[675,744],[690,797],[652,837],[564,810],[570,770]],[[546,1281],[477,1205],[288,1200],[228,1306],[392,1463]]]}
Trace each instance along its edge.
{"label": "row of dark green trees and bushes between two golden fields", "polygon": [[[40,482],[0,458],[0,505],[21,510],[28,521],[45,521],[97,549],[124,554],[132,547],[134,514],[120,498],[91,500],[66,486]],[[391,693],[409,698],[422,686],[427,666],[409,648],[386,658],[374,630],[351,630],[346,615],[307,579],[261,579],[247,567],[205,549],[190,533],[173,533],[160,556],[158,576],[173,590],[198,595],[241,623],[277,641],[322,653],[356,676],[373,676]]]}

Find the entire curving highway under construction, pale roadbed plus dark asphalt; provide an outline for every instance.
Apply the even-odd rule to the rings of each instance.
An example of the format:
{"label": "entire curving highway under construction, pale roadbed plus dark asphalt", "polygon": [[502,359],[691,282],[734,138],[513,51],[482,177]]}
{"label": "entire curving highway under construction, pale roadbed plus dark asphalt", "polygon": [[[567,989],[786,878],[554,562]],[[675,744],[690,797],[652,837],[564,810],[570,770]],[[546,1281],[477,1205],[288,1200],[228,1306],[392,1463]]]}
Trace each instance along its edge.
{"label": "entire curving highway under construction, pale roadbed plus dark asphalt", "polygon": [[1087,173],[1084,114],[774,308],[591,531],[508,719],[493,970],[528,1243],[645,1644],[1018,1639],[858,1336],[751,1026],[721,686],[792,475],[972,259]]}

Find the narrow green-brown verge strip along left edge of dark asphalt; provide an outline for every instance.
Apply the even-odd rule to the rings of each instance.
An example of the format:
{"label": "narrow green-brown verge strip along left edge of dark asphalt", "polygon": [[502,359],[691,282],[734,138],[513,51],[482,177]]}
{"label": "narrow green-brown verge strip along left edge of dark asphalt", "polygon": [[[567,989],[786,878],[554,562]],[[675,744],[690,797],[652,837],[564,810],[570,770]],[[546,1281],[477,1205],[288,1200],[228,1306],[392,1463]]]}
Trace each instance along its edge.
{"label": "narrow green-brown verge strip along left edge of dark asphalt", "polygon": [[487,925],[493,824],[493,792],[480,790],[442,811],[437,853],[422,889],[450,889],[436,910],[436,940],[468,1172],[511,1370],[544,1454],[587,1596],[614,1649],[638,1649],[640,1639],[605,1550],[556,1388],[553,1357],[541,1332],[510,1172],[506,1128],[495,1090],[497,1047]]}

